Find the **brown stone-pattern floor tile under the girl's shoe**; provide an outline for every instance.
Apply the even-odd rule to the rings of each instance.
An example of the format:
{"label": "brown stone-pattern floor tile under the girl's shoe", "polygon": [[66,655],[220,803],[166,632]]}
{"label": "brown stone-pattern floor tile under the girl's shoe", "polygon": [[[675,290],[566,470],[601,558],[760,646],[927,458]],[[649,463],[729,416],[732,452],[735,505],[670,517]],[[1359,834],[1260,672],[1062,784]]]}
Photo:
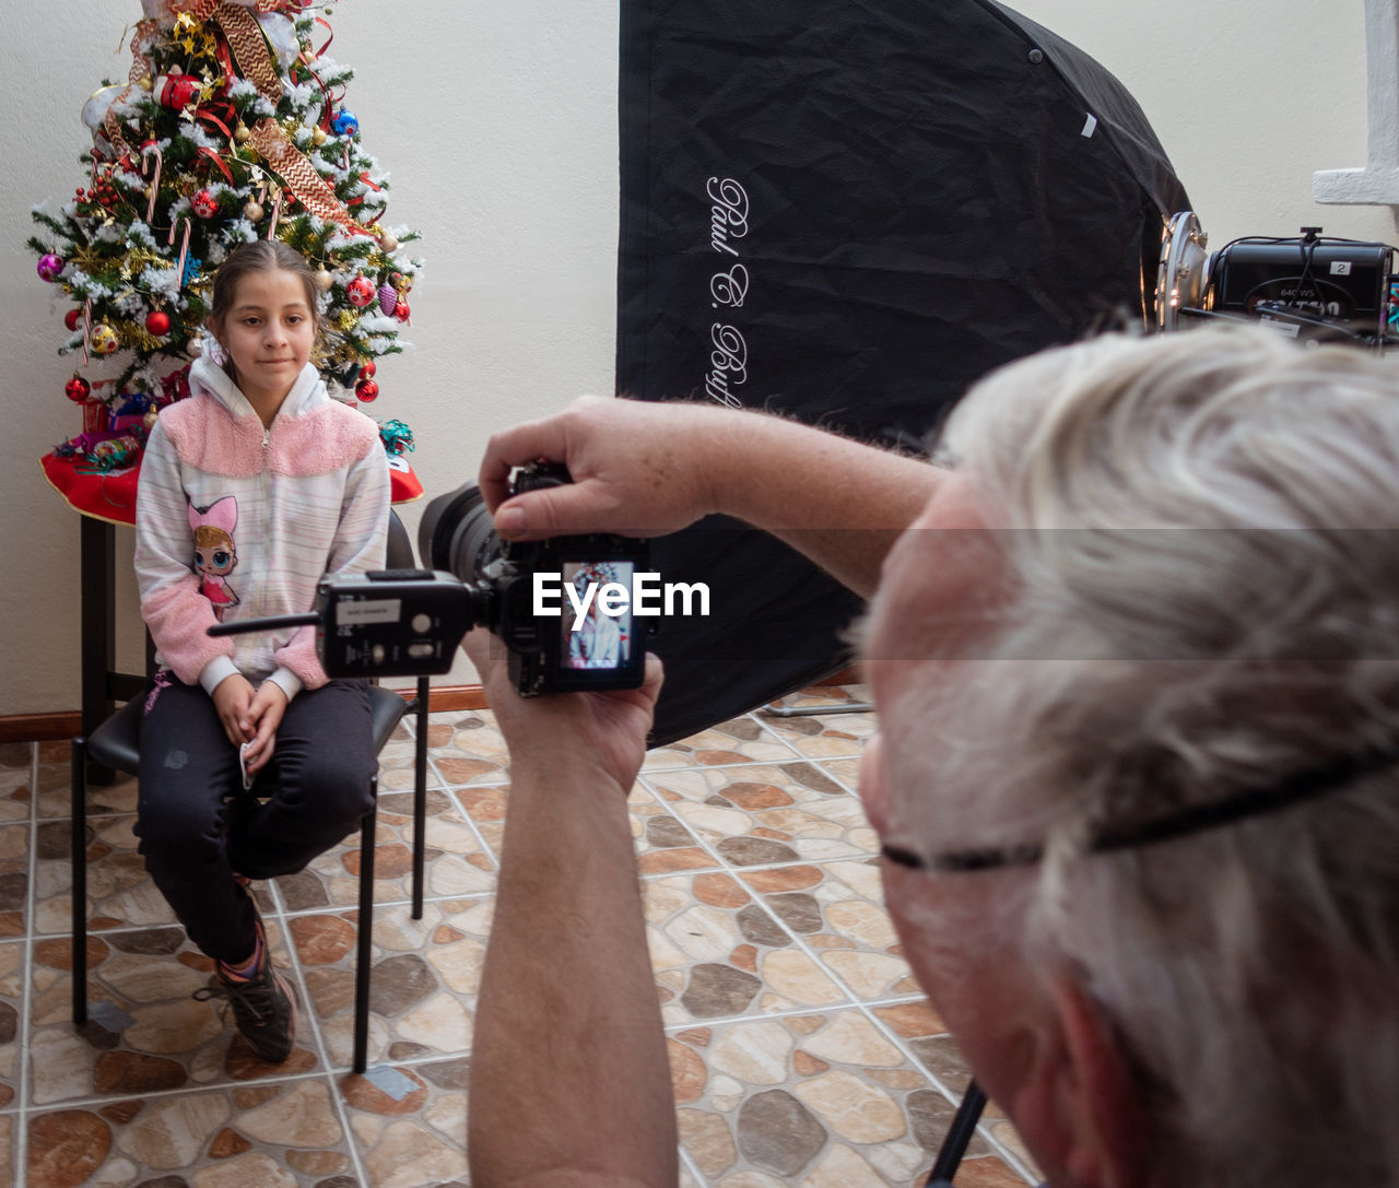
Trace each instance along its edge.
{"label": "brown stone-pattern floor tile under the girl's shoe", "polygon": [[[273,961],[288,970],[276,921]],[[213,964],[176,926],[88,936],[88,1021],[71,1023],[73,947],[67,938],[34,942],[29,988],[29,1104],[186,1090],[306,1073],[320,1065],[312,1028],[281,1065],[269,1065],[234,1027],[227,1003],[197,1000]],[[305,993],[298,988],[305,1002]]]}

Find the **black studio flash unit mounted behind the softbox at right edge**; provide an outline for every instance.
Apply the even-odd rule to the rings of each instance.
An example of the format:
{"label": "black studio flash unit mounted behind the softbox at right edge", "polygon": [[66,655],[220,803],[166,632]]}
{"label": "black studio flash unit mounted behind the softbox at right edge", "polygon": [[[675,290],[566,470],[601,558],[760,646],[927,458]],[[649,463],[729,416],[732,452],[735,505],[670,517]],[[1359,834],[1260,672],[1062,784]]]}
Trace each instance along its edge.
{"label": "black studio flash unit mounted behind the softbox at right edge", "polygon": [[1307,343],[1399,346],[1399,277],[1386,243],[1322,236],[1252,235],[1206,253],[1192,211],[1177,214],[1161,242],[1157,326],[1192,320],[1262,322]]}

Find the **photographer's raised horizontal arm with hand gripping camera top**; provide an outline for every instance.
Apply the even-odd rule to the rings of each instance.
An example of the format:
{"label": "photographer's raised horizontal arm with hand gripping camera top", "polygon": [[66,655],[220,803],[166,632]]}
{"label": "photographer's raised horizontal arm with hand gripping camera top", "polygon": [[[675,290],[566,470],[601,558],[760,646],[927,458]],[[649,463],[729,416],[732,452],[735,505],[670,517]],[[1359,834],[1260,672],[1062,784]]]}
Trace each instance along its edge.
{"label": "photographer's raised horizontal arm with hand gripping camera top", "polygon": [[[511,467],[539,458],[564,462],[574,486],[506,500]],[[495,434],[480,486],[497,532],[511,540],[660,536],[722,512],[869,596],[884,554],[940,476],[922,459],[764,413],[583,396],[558,416]]]}

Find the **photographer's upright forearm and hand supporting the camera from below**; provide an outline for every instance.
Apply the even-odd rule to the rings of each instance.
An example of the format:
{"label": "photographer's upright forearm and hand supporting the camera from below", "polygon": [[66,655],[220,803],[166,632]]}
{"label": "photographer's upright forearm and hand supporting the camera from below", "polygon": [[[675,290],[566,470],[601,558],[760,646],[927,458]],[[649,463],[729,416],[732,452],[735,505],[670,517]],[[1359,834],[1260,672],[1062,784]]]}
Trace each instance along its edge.
{"label": "photographer's upright forearm and hand supporting the camera from below", "polygon": [[525,701],[492,637],[466,646],[511,747],[471,1048],[471,1182],[673,1188],[670,1066],[627,814],[660,663],[648,658],[639,690]]}

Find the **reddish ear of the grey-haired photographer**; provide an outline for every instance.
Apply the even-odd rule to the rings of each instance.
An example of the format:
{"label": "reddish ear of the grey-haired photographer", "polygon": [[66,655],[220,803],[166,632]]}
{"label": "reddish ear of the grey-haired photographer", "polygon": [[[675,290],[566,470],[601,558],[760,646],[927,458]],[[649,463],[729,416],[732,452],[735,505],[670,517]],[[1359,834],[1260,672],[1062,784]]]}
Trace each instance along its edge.
{"label": "reddish ear of the grey-haired photographer", "polygon": [[1081,1188],[1140,1184],[1147,1126],[1137,1079],[1102,1009],[1055,978],[1011,1117],[1027,1146]]}

